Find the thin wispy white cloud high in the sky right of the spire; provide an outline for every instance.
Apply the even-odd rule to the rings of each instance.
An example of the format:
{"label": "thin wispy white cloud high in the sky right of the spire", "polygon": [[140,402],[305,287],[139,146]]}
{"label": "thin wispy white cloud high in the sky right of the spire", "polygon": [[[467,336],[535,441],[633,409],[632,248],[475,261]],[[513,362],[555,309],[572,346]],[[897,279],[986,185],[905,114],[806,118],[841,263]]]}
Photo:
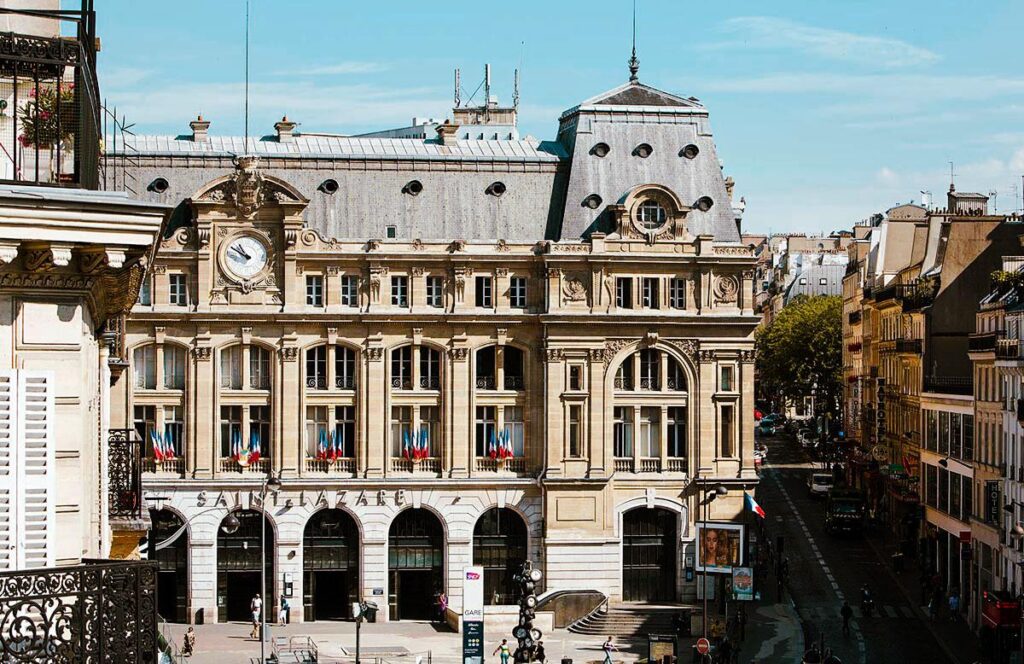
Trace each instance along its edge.
{"label": "thin wispy white cloud high in the sky right of the spire", "polygon": [[722,29],[735,40],[710,47],[792,50],[883,69],[921,67],[940,59],[934,51],[898,39],[856,35],[772,16],[738,16],[726,20]]}

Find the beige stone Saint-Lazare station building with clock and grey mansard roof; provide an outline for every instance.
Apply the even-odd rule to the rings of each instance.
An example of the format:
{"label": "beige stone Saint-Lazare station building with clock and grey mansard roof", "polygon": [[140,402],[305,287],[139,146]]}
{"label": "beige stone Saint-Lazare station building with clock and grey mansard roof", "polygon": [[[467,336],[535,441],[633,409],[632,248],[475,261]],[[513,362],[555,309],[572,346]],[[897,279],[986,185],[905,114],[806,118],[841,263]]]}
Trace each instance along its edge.
{"label": "beige stone Saint-Lazare station building with clock and grey mansard roof", "polygon": [[673,603],[707,483],[741,533],[756,257],[708,111],[636,80],[553,141],[456,111],[436,138],[283,121],[232,159],[197,120],[132,147],[142,198],[181,212],[112,412],[145,441],[155,537],[188,525],[159,553],[168,618],[245,619],[264,551],[297,620],[424,618],[440,590],[458,615],[474,563],[497,611],[524,558],[548,590]]}

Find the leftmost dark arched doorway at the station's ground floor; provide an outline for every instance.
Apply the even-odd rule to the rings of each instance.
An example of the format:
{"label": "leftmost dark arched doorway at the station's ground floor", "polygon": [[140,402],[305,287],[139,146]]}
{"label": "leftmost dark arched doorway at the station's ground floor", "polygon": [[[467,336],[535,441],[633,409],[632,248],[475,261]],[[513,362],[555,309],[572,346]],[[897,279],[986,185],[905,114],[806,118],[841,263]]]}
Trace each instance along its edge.
{"label": "leftmost dark arched doorway at the station's ground floor", "polygon": [[169,509],[151,509],[150,559],[157,562],[157,613],[169,622],[188,622],[188,531],[174,543],[155,550],[157,544],[181,530],[184,522]]}

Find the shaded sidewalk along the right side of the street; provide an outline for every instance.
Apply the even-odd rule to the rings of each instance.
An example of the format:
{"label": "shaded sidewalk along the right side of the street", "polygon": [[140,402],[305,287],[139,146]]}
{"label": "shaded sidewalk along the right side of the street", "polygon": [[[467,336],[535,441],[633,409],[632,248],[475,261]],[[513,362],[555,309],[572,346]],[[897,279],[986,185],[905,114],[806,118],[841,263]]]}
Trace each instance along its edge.
{"label": "shaded sidewalk along the right side of the street", "polygon": [[[886,565],[885,570],[888,578],[892,580],[896,587],[906,598],[907,603],[914,608],[914,611],[923,617],[923,622],[931,632],[935,642],[938,644],[950,661],[953,662],[983,662],[985,659],[981,652],[981,641],[978,636],[971,631],[967,620],[963,614],[956,620],[940,618],[932,620],[928,613],[928,607],[921,606],[921,567],[913,559],[904,558],[903,571],[894,572],[892,561],[893,553],[896,552],[896,545],[891,537],[885,535],[885,531],[868,532],[865,538],[871,548]],[[945,616],[942,612],[940,615]]]}

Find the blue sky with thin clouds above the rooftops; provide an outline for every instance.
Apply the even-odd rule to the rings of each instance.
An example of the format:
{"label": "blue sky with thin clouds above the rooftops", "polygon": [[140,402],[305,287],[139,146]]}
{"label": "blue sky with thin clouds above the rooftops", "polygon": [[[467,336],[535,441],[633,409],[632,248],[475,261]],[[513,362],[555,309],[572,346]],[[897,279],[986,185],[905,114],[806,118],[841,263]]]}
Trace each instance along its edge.
{"label": "blue sky with thin clouds above the rooftops", "polygon": [[[625,82],[629,0],[251,0],[251,125],[355,133],[444,118],[484,63],[520,130]],[[97,0],[100,87],[139,132],[243,130],[244,0]],[[711,111],[751,232],[849,227],[932,191],[1020,209],[1024,3],[638,0],[641,81]],[[465,98],[466,95],[464,95]],[[480,98],[480,93],[477,94]],[[1016,188],[1016,200],[1015,200]]]}

